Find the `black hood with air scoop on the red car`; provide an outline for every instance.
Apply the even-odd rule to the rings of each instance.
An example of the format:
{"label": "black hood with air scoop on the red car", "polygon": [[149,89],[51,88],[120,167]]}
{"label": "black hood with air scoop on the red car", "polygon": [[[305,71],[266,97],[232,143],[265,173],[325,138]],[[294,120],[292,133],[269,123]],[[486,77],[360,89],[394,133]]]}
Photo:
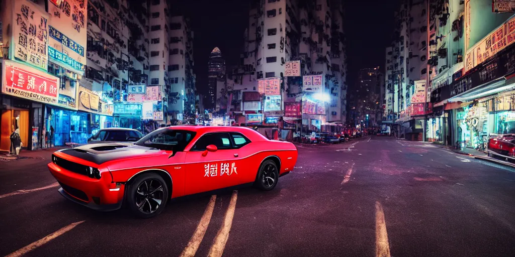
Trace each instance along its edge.
{"label": "black hood with air scoop on the red car", "polygon": [[116,159],[158,155],[161,150],[134,143],[94,143],[63,149],[58,152],[101,164]]}

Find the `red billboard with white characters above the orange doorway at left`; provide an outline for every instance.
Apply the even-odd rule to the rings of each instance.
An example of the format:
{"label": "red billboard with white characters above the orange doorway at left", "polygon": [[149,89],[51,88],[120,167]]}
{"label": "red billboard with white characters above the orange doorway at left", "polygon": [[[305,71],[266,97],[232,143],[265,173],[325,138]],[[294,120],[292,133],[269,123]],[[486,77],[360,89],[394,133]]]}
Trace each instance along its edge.
{"label": "red billboard with white characters above the orange doorway at left", "polygon": [[41,103],[58,104],[60,80],[35,68],[4,60],[2,93]]}

